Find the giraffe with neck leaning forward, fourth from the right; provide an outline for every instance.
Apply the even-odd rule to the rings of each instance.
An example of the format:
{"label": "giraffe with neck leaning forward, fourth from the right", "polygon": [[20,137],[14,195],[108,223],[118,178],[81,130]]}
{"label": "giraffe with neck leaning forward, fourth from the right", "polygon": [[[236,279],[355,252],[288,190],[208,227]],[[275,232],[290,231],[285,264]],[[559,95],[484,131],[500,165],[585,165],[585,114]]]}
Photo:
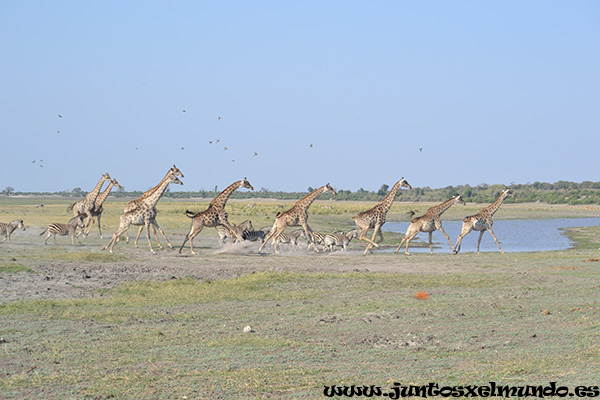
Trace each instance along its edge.
{"label": "giraffe with neck leaning forward, fourth from the right", "polygon": [[258,252],[260,253],[265,247],[265,245],[269,242],[271,238],[273,238],[273,246],[275,247],[275,253],[279,254],[279,250],[277,249],[277,240],[279,238],[279,234],[285,230],[288,226],[301,226],[304,228],[304,233],[308,240],[312,243],[315,251],[318,253],[319,249],[315,245],[312,235],[312,229],[308,226],[308,207],[323,193],[330,192],[333,193],[334,196],[337,196],[336,191],[329,185],[329,183],[325,186],[321,186],[317,190],[310,193],[308,196],[303,199],[298,200],[292,208],[287,211],[277,213],[275,217],[275,223],[273,224],[273,228],[265,237],[265,241],[262,243]]}

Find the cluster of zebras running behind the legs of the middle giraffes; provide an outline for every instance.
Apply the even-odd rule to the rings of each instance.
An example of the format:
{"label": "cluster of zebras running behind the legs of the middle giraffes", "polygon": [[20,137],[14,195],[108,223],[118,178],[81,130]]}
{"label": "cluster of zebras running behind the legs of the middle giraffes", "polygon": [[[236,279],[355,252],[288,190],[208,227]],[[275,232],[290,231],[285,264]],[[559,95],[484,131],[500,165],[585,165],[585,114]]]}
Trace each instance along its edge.
{"label": "cluster of zebras running behind the legs of the middle giraffes", "polygon": [[[271,228],[266,226],[260,228],[259,230],[254,230],[252,226],[252,221],[246,220],[239,225],[232,225],[233,230],[240,236],[243,240],[247,240],[250,242],[263,242],[269,232],[271,232]],[[217,225],[215,227],[217,233],[219,234],[219,244],[223,246],[225,240],[231,237],[229,229],[224,227],[223,225]],[[322,247],[322,250],[329,250],[331,252],[334,251],[335,247],[341,247],[342,250],[348,249],[348,244],[352,239],[358,238],[358,229],[352,229],[348,233],[344,233],[343,231],[337,231],[334,233],[319,233],[319,232],[311,232],[312,242]],[[301,248],[298,243],[299,238],[307,239],[306,233],[304,233],[304,229],[296,229],[291,231],[290,233],[282,232],[277,237],[277,242],[279,244],[289,244],[292,246],[292,249],[296,250],[296,248]],[[233,236],[233,240],[236,241],[235,235]],[[275,239],[273,238],[273,241]],[[271,242],[273,244],[273,242]],[[306,248],[310,247],[310,241],[307,242]]]}

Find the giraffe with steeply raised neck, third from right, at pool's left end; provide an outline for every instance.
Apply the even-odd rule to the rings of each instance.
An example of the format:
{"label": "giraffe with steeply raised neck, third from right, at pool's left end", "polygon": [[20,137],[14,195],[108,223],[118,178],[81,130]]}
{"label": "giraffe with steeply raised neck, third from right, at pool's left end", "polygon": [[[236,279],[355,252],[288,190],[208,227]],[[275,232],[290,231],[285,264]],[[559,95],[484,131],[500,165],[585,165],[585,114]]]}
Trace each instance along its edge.
{"label": "giraffe with steeply raised neck, third from right, at pool's left end", "polygon": [[[358,215],[352,217],[356,226],[358,227],[358,240],[363,242],[366,246],[365,252],[363,255],[367,254],[367,252],[371,249],[372,246],[379,247],[377,243],[375,243],[375,236],[379,233],[379,237],[383,240],[383,235],[381,234],[381,227],[385,224],[385,216],[392,206],[394,199],[396,198],[396,194],[400,190],[401,187],[406,187],[412,189],[412,186],[406,181],[406,179],[402,178],[392,190],[388,193],[388,195],[380,201],[375,207],[370,210],[363,211]],[[373,238],[369,240],[367,238],[367,232],[369,229],[373,228]]]}

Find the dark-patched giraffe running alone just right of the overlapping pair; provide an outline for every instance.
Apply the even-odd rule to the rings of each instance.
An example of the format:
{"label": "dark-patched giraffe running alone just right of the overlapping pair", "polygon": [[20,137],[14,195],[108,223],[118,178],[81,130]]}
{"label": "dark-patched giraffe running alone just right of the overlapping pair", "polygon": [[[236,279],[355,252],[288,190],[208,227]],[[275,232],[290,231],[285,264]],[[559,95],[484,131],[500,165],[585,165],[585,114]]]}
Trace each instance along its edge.
{"label": "dark-patched giraffe running alone just right of the overlapping pair", "polygon": [[196,214],[193,214],[190,211],[186,211],[186,215],[192,218],[192,227],[190,229],[190,233],[188,233],[183,239],[183,243],[179,248],[179,254],[181,254],[181,250],[183,249],[183,246],[188,240],[190,241],[191,253],[196,254],[196,252],[194,251],[193,240],[194,237],[196,237],[196,235],[198,235],[205,226],[214,227],[218,225],[223,225],[230,232],[229,236],[231,237],[231,243],[233,243],[234,235],[240,242],[243,241],[240,235],[238,235],[238,233],[236,232],[236,230],[233,229],[233,227],[229,224],[229,221],[227,221],[227,211],[225,211],[225,205],[227,204],[227,200],[229,200],[229,196],[231,196],[233,192],[235,192],[241,187],[254,190],[250,182],[248,182],[248,180],[244,178],[241,181],[232,183],[225,190],[223,190],[221,194],[219,194],[210,202],[206,210]]}

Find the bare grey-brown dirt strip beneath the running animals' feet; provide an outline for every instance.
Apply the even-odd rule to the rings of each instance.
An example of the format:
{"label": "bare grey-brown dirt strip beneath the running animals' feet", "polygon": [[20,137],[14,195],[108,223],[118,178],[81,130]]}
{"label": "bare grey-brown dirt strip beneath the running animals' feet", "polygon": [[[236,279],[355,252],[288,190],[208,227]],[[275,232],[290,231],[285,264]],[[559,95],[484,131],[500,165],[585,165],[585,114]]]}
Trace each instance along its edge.
{"label": "bare grey-brown dirt strip beneath the running animals' feet", "polygon": [[[16,235],[15,235],[16,236]],[[62,239],[62,240],[61,240]],[[99,240],[99,239],[98,239]],[[59,238],[59,242],[68,242]],[[190,255],[189,247],[182,254],[178,249],[165,248],[152,255],[147,245],[134,248],[119,243],[115,254],[101,251],[101,245],[71,246],[70,244],[32,249],[28,243],[4,243],[0,247],[0,262],[17,264],[34,271],[0,273],[0,304],[32,299],[63,299],[100,296],[98,289],[110,289],[126,282],[168,280],[194,277],[199,280],[227,279],[259,271],[346,272],[383,271],[451,273],[480,269],[478,262],[468,261],[468,254],[452,256],[449,249],[436,250],[437,254],[391,254],[393,248],[383,248],[363,256],[361,245],[353,243],[347,252],[336,251],[316,254],[313,250],[283,249],[275,254],[272,249],[258,254],[258,244],[226,244],[219,248],[216,240]],[[283,246],[282,246],[283,247]],[[43,251],[51,250],[51,258]],[[483,258],[489,257],[483,255]],[[506,255],[506,257],[510,257]],[[99,259],[100,261],[94,261]]]}

